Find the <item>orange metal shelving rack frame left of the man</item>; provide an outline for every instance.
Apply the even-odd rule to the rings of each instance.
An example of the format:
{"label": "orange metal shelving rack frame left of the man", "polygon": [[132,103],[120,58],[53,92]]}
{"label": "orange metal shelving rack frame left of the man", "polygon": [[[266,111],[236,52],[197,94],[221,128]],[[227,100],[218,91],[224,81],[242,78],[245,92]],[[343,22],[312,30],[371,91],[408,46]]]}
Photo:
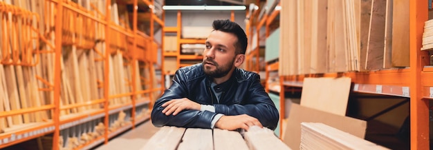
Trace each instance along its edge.
{"label": "orange metal shelving rack frame left of the man", "polygon": [[[147,6],[154,6],[154,0],[148,1],[143,0]],[[107,6],[105,8],[106,14],[110,14],[111,12],[111,1],[106,1]],[[41,107],[31,107],[31,108],[24,108],[19,110],[13,110],[13,111],[2,111],[0,113],[0,117],[7,117],[7,116],[13,116],[17,114],[28,114],[35,111],[44,111],[48,110],[51,111],[51,118],[52,120],[44,120],[44,122],[38,122],[38,123],[30,123],[28,125],[24,125],[23,127],[20,127],[19,129],[16,129],[14,131],[7,131],[5,133],[0,134],[0,148],[9,147],[13,144],[17,144],[20,142],[24,142],[26,140],[31,140],[33,138],[44,136],[48,133],[53,133],[53,149],[60,149],[59,147],[59,132],[62,129],[67,129],[69,127],[75,127],[77,125],[80,125],[84,122],[89,122],[91,120],[95,120],[98,118],[104,118],[104,135],[95,138],[91,141],[86,142],[85,144],[80,145],[80,147],[77,147],[77,149],[89,149],[91,147],[94,147],[95,145],[98,145],[102,142],[107,143],[109,138],[112,138],[113,136],[118,135],[119,133],[122,133],[126,131],[127,129],[134,128],[136,125],[138,125],[140,122],[143,122],[145,120],[149,119],[149,115],[141,116],[140,118],[136,118],[136,108],[142,107],[145,105],[149,105],[151,107],[152,102],[152,94],[149,94],[151,92],[156,91],[162,91],[163,90],[163,81],[161,81],[161,87],[150,87],[149,89],[145,89],[142,91],[136,90],[135,86],[132,86],[132,90],[130,93],[126,94],[118,94],[118,95],[109,95],[109,61],[108,58],[111,54],[111,51],[109,50],[111,41],[109,41],[110,32],[118,32],[118,34],[124,34],[129,39],[133,39],[133,46],[132,49],[126,52],[126,56],[129,56],[132,61],[142,61],[145,63],[148,63],[150,67],[153,67],[153,64],[156,63],[156,50],[158,48],[158,45],[153,43],[154,41],[154,33],[151,32],[150,36],[144,35],[143,33],[140,33],[137,30],[136,24],[137,24],[137,3],[138,0],[133,1],[133,30],[127,30],[125,28],[122,28],[118,25],[114,25],[111,23],[111,17],[107,15],[104,18],[95,17],[93,14],[89,13],[89,11],[83,10],[80,7],[77,7],[76,4],[72,3],[71,1],[63,1],[63,0],[46,0],[44,3],[48,6],[50,3],[53,3],[55,5],[55,11],[57,14],[55,17],[55,37],[58,37],[55,39],[55,44],[53,45],[53,53],[55,53],[55,60],[54,60],[54,79],[53,83],[46,82],[48,85],[52,85],[52,94],[53,94],[53,104],[43,105]],[[5,3],[0,3],[0,10],[2,7],[6,7],[7,5]],[[60,66],[60,59],[62,56],[62,45],[64,44],[64,41],[62,41],[62,13],[64,10],[72,10],[73,12],[76,12],[77,14],[80,14],[86,19],[89,19],[91,21],[94,21],[95,23],[100,23],[101,25],[104,25],[104,32],[105,32],[105,45],[107,47],[107,51],[105,54],[103,54],[103,62],[104,62],[104,82],[102,84],[104,88],[104,98],[97,99],[97,100],[91,100],[89,103],[78,103],[75,105],[67,105],[67,106],[60,106],[60,82],[61,82],[61,66]],[[152,8],[153,9],[153,8]],[[53,13],[52,12],[52,13]],[[51,15],[51,14],[50,14]],[[48,15],[47,15],[48,16]],[[154,21],[158,23],[159,25],[163,26],[164,23],[159,19],[156,14],[151,14],[151,30],[154,30]],[[43,38],[39,36],[39,38]],[[44,39],[42,39],[44,40]],[[139,48],[137,45],[138,40],[142,41],[145,40],[144,49]],[[161,47],[161,45],[159,45]],[[138,72],[138,70],[135,69],[135,64],[131,63],[133,65],[131,72]],[[151,68],[153,69],[153,68]],[[136,83],[136,74],[131,74],[132,81],[131,83]],[[149,76],[148,81],[154,81],[154,76]],[[149,84],[145,82],[145,84]],[[136,98],[138,94],[149,94],[149,97],[147,98]],[[131,102],[125,103],[123,105],[116,105],[111,107],[109,105],[109,99],[111,98],[118,98],[118,97],[124,97],[124,96],[130,96]],[[73,116],[68,116],[68,118],[64,118],[60,115],[60,111],[62,109],[71,109],[76,107],[82,107],[82,106],[89,106],[89,105],[95,105],[95,104],[101,104],[104,105],[103,109],[98,109],[96,111],[89,111],[85,114],[75,114]],[[128,109],[132,109],[131,111],[131,124],[125,125],[123,127],[120,127],[119,129],[116,129],[116,131],[109,132],[109,115],[110,114],[116,114],[119,111],[125,111]],[[138,111],[138,110],[137,110]]]}

